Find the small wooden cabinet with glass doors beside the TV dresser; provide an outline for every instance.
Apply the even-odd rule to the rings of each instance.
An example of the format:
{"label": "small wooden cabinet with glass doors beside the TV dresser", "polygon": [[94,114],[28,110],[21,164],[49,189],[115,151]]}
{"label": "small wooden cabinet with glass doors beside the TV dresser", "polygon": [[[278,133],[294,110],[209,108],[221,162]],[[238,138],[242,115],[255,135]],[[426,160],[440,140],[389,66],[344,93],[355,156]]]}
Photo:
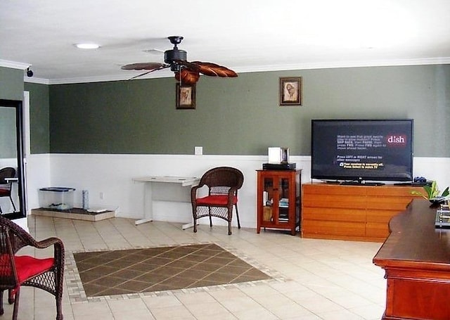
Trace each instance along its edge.
{"label": "small wooden cabinet with glass doors beside the TV dresser", "polygon": [[[257,233],[300,224],[301,170],[257,170]],[[300,226],[299,226],[300,228]]]}

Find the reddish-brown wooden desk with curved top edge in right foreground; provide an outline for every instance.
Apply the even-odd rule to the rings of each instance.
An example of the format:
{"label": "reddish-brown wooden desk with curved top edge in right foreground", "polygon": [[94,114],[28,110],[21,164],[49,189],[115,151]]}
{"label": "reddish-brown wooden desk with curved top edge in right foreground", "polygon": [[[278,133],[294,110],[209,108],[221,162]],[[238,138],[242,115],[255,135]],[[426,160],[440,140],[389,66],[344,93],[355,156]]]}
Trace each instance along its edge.
{"label": "reddish-brown wooden desk with curved top edge in right foreground", "polygon": [[450,319],[450,229],[435,229],[435,212],[415,199],[390,221],[373,258],[386,271],[383,320]]}

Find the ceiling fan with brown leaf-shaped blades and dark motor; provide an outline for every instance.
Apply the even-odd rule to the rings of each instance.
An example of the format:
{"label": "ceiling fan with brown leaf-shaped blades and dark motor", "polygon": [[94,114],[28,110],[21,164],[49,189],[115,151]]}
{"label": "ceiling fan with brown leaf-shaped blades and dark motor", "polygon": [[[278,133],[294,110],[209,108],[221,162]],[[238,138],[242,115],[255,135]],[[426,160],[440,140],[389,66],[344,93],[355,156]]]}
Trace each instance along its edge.
{"label": "ceiling fan with brown leaf-shaped blades and dark motor", "polygon": [[[238,77],[238,74],[229,68],[217,65],[215,63],[192,61],[188,62],[188,53],[184,50],[178,49],[178,44],[184,38],[181,36],[167,37],[170,43],[174,45],[174,49],[167,50],[164,53],[165,63],[131,63],[129,65],[123,65],[122,70],[148,70],[147,72],[137,75],[141,77],[147,75],[150,72],[169,68],[175,72],[175,79],[183,84],[192,85],[198,82],[200,79],[200,73],[203,75],[209,75],[212,77]],[[134,79],[136,77],[132,77]]]}

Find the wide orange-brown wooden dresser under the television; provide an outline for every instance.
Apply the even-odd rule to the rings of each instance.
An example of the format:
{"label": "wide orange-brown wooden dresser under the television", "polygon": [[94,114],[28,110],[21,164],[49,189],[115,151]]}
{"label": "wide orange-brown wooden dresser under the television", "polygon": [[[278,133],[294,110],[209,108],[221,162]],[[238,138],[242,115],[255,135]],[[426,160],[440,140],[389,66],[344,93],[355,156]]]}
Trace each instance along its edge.
{"label": "wide orange-brown wooden dresser under the television", "polygon": [[387,224],[421,186],[302,185],[302,237],[383,242]]}

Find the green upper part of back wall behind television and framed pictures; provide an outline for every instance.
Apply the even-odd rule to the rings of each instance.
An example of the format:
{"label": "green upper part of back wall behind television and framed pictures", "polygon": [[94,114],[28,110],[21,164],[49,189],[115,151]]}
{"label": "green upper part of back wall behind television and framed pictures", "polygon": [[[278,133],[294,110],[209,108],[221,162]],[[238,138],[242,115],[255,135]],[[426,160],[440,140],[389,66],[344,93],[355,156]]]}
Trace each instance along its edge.
{"label": "green upper part of back wall behind television and framed pictures", "polygon": [[[302,77],[303,105],[278,105],[279,77]],[[413,118],[415,155],[449,157],[450,65],[334,68],[201,77],[197,108],[175,80],[51,85],[51,153],[310,154],[311,119]]]}

